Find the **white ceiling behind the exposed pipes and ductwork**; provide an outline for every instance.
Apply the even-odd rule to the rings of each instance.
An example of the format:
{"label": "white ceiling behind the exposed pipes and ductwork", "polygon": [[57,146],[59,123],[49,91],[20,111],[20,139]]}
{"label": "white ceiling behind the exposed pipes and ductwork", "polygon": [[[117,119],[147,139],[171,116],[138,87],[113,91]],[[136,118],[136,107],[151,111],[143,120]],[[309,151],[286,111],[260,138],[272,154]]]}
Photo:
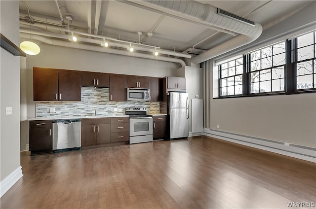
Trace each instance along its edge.
{"label": "white ceiling behind the exposed pipes and ductwork", "polygon": [[[61,25],[59,12],[55,0],[26,0],[30,9],[30,15],[36,22],[48,22]],[[163,16],[162,14],[130,5],[133,1],[87,1],[87,0],[57,0],[64,23],[68,24],[66,15],[71,15],[71,30],[88,33],[88,22],[91,23],[91,31],[94,34],[96,4],[101,2],[101,14],[99,18],[98,34],[114,37],[120,40],[139,42],[137,32],[142,32],[140,40],[143,44],[154,45],[166,50],[178,52],[192,48],[204,38],[213,35],[209,39],[196,45],[194,48],[208,50],[221,42],[233,37],[233,35],[217,32],[216,30]],[[137,1],[135,1],[137,3]],[[199,0],[215,7],[224,9],[238,16],[265,25],[293,10],[302,8],[312,1],[309,0]],[[88,11],[89,4],[91,12]],[[25,3],[20,0],[20,20],[28,16]],[[160,20],[160,21],[159,21]],[[156,27],[155,27],[156,26]],[[29,27],[23,25],[23,27]],[[37,27],[32,26],[33,29]],[[45,30],[38,28],[39,30]],[[67,27],[66,27],[67,29]],[[153,30],[154,29],[154,30]],[[63,34],[64,32],[51,31]],[[152,37],[147,36],[152,32]],[[216,33],[216,34],[215,34]]]}

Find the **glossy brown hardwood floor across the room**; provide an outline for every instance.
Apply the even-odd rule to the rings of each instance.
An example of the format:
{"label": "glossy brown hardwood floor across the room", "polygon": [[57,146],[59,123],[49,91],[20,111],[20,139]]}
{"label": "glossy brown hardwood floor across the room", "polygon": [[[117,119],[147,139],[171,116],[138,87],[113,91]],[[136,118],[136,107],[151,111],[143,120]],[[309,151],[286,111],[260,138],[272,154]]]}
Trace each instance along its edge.
{"label": "glossy brown hardwood floor across the room", "polygon": [[316,202],[316,164],[194,137],[38,156],[1,209],[288,208]]}

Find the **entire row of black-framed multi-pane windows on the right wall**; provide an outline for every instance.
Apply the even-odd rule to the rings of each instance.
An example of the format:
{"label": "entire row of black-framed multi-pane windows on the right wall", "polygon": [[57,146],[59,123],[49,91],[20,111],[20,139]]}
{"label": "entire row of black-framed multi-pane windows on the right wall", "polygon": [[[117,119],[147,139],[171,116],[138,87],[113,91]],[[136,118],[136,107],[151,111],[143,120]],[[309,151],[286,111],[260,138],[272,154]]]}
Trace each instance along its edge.
{"label": "entire row of black-framed multi-pane windows on the right wall", "polygon": [[316,92],[316,31],[227,60],[219,97]]}

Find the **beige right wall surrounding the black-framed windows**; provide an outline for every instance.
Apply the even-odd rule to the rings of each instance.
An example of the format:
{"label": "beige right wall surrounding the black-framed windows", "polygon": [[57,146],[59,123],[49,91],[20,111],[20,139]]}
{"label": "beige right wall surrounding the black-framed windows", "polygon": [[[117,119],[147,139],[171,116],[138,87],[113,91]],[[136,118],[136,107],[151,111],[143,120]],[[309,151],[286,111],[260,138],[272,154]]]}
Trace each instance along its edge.
{"label": "beige right wall surrounding the black-framed windows", "polygon": [[[314,1],[294,16],[264,31],[254,43],[236,51],[240,53],[251,47],[254,50],[253,46],[262,47],[265,43],[284,40],[287,36],[299,34],[298,29],[301,33],[311,28],[315,30],[315,5]],[[213,69],[214,72],[217,70]],[[214,76],[213,73],[210,75]],[[213,89],[210,92],[213,94]],[[207,128],[316,147],[316,93],[227,99],[212,99],[211,95],[210,98],[210,127]]]}

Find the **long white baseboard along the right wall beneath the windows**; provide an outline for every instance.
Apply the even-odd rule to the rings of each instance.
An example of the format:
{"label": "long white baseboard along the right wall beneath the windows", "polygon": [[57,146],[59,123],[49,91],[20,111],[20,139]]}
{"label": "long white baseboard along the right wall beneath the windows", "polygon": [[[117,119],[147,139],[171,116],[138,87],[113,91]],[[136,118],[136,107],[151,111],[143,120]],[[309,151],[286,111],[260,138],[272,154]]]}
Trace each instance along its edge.
{"label": "long white baseboard along the right wall beneath the windows", "polygon": [[316,163],[316,148],[204,128],[204,135]]}

